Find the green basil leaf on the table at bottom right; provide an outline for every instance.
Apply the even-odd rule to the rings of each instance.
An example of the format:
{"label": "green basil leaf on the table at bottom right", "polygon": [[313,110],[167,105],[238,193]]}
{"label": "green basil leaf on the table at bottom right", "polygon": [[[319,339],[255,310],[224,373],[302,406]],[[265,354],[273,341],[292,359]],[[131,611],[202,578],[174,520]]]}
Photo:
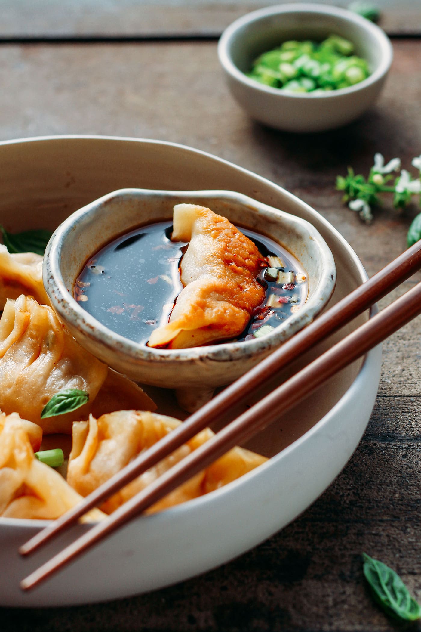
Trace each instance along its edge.
{"label": "green basil leaf on the table at bottom right", "polygon": [[421,618],[421,606],[413,599],[401,580],[389,566],[363,553],[364,575],[374,599],[394,618],[416,621]]}

